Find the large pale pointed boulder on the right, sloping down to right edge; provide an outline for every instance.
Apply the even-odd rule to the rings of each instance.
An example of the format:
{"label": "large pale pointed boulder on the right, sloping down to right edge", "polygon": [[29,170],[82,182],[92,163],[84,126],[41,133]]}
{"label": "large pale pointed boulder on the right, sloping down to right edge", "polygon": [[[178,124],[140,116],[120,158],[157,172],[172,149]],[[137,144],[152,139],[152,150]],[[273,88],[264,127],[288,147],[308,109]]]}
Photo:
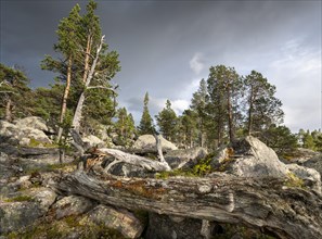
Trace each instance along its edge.
{"label": "large pale pointed boulder on the right, sloping down to right edge", "polygon": [[252,136],[235,141],[223,149],[211,162],[211,166],[240,177],[287,177],[295,175],[321,192],[321,176],[314,169],[297,164],[282,163],[276,153],[259,139]]}

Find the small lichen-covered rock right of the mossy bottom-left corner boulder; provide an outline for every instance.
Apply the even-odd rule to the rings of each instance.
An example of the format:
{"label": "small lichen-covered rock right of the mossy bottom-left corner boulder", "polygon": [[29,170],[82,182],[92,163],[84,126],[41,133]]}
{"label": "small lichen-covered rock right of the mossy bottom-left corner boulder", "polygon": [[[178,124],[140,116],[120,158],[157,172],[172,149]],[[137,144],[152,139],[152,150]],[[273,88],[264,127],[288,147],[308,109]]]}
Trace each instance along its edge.
{"label": "small lichen-covered rock right of the mossy bottom-left corner boulder", "polygon": [[59,200],[51,207],[51,212],[56,219],[70,215],[79,215],[93,209],[94,203],[92,200],[80,197],[69,196]]}

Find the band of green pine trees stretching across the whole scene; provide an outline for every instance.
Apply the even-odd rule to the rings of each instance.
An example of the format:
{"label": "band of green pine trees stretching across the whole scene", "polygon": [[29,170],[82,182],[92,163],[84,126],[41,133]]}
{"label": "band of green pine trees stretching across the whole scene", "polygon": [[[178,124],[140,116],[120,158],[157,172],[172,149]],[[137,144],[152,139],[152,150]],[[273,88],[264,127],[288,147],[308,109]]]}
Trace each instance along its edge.
{"label": "band of green pine trees stretching across the whole scene", "polygon": [[[35,115],[47,120],[65,139],[70,127],[98,135],[102,128],[121,146],[128,147],[140,135],[159,131],[181,148],[217,149],[235,138],[253,135],[281,152],[301,146],[322,151],[319,131],[297,135],[282,125],[282,102],[276,88],[262,74],[252,71],[241,76],[233,67],[211,66],[199,81],[190,108],[177,115],[170,100],[155,116],[149,111],[149,92],[142,117],[136,127],[126,108],[118,106],[117,86],[112,78],[120,71],[118,53],[108,51],[94,14],[92,0],[83,15],[76,4],[57,26],[57,58],[46,55],[41,67],[56,73],[49,88],[28,87],[29,79],[18,66],[0,64],[0,117],[5,121]],[[104,126],[104,127],[102,127]]]}

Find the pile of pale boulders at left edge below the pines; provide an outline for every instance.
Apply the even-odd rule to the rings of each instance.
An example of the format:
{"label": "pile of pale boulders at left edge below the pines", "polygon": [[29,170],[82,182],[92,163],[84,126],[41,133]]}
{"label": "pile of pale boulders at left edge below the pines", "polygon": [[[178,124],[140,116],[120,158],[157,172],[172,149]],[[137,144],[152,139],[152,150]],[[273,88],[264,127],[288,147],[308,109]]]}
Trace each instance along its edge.
{"label": "pile of pale boulders at left edge below the pines", "polygon": [[[37,121],[35,122],[37,123]],[[0,136],[1,138],[7,138],[12,143],[21,146],[28,146],[31,140],[37,141],[37,143],[52,143],[48,136],[39,129],[44,128],[44,125],[38,122],[38,124],[34,125],[36,127],[34,128],[28,126],[31,124],[29,118],[27,121],[24,121],[24,118],[20,120],[16,125],[0,121]]]}

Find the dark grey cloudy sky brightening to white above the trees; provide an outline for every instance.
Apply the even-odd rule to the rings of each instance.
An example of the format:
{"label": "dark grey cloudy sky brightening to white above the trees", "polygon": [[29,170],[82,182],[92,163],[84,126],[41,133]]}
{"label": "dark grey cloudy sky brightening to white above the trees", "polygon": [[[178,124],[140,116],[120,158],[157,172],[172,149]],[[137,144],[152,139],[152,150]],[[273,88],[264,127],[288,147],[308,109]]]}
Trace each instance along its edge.
{"label": "dark grey cloudy sky brightening to white above the trees", "polygon": [[[77,2],[0,0],[0,60],[27,70],[31,87],[53,75],[39,67],[52,54],[59,21]],[[278,88],[285,124],[318,129],[321,115],[321,1],[99,1],[96,14],[111,49],[119,52],[119,104],[142,113],[145,91],[155,115],[172,102],[177,113],[211,65],[256,70]],[[138,123],[138,122],[137,122]]]}

